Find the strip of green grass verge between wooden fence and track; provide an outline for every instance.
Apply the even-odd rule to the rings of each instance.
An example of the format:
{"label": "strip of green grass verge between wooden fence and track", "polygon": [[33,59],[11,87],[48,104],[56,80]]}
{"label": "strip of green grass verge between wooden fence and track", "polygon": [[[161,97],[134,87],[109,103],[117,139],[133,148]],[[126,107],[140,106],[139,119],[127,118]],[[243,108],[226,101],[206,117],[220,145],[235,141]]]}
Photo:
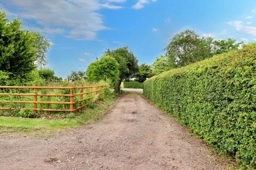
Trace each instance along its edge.
{"label": "strip of green grass verge between wooden fence and track", "polygon": [[114,98],[98,101],[94,107],[87,107],[62,120],[0,116],[0,134],[52,135],[60,130],[78,128],[99,120],[110,109],[113,102]]}

